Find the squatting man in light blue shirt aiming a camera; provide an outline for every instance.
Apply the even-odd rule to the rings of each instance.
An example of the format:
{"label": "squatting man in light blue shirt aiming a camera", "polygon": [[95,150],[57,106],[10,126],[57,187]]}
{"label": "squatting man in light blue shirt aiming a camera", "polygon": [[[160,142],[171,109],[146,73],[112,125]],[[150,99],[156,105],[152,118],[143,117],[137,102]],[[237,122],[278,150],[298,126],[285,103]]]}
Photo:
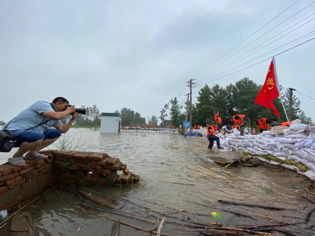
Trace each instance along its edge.
{"label": "squatting man in light blue shirt aiming a camera", "polygon": [[[13,166],[26,166],[24,159],[48,158],[38,151],[54,143],[61,133],[66,133],[78,116],[74,105],[68,105],[68,100],[62,97],[55,98],[52,103],[37,101],[4,126],[4,129],[19,136],[14,146],[19,149],[8,159],[9,163]],[[72,119],[63,125],[60,120],[70,114]]]}

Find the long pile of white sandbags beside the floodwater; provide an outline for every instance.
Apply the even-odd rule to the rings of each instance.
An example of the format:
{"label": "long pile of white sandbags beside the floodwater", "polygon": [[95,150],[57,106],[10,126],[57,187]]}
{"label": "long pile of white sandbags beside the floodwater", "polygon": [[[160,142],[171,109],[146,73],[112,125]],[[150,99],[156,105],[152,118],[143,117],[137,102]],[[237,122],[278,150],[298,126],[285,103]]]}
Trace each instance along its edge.
{"label": "long pile of white sandbags beside the floodwater", "polygon": [[315,181],[315,124],[292,121],[259,135],[221,135],[223,151],[237,150],[273,165],[295,170]]}

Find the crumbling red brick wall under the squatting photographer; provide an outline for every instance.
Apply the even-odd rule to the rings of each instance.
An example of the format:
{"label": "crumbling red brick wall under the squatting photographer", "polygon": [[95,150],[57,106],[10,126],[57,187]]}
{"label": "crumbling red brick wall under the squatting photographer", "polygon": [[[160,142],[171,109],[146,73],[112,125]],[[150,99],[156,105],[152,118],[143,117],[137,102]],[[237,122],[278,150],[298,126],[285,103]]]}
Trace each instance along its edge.
{"label": "crumbling red brick wall under the squatting photographer", "polygon": [[[58,150],[40,153],[48,155],[48,159],[26,160],[24,167],[0,165],[0,210],[39,196],[51,183],[97,186],[132,181],[127,166],[106,153]],[[118,175],[117,171],[123,173]]]}

